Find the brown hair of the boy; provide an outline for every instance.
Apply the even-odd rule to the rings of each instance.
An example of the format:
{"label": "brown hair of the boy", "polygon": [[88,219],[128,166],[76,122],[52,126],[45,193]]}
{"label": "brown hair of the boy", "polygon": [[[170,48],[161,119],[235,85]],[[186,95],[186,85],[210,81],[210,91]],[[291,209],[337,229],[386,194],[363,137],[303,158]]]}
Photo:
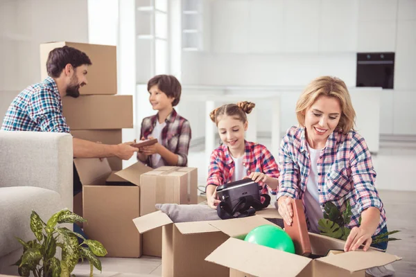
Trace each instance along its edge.
{"label": "brown hair of the boy", "polygon": [[148,81],[148,91],[154,85],[157,85],[159,91],[162,91],[168,97],[175,98],[172,102],[172,106],[175,107],[179,104],[180,93],[182,86],[180,82],[173,75],[156,75]]}

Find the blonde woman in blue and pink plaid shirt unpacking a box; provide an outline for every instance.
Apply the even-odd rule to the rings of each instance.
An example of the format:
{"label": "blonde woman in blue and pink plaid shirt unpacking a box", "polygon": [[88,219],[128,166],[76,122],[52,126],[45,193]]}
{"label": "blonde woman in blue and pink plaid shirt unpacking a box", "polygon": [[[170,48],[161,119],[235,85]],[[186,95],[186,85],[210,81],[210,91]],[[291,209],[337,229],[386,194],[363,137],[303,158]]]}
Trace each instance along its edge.
{"label": "blonde woman in blue and pink plaid shirt unpacking a box", "polygon": [[[297,100],[296,114],[300,127],[288,129],[279,150],[280,215],[291,224],[289,198],[302,199],[309,230],[319,233],[324,204],[343,211],[348,201],[352,230],[344,250],[365,243],[367,251],[372,237],[387,232],[387,226],[370,151],[353,128],[355,111],[345,83],[329,76],[313,80]],[[372,246],[385,250],[387,242]]]}

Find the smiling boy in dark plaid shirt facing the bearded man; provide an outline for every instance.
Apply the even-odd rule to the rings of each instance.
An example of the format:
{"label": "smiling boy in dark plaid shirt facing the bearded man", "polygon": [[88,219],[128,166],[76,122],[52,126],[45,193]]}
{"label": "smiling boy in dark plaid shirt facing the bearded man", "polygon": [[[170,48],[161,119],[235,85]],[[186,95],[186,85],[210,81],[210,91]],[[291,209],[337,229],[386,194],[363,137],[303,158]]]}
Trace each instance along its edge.
{"label": "smiling boy in dark plaid shirt facing the bearded man", "polygon": [[152,168],[187,166],[191,126],[177,114],[182,87],[172,75],[157,75],[149,80],[149,100],[157,114],[144,118],[141,139],[157,139],[157,143],[139,149],[137,159]]}

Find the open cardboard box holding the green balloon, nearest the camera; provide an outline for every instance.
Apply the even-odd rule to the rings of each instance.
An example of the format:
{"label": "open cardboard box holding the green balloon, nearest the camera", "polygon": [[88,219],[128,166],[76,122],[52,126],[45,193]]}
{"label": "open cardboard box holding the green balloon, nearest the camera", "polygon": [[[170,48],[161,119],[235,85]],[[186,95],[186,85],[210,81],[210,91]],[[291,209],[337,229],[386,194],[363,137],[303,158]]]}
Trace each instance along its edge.
{"label": "open cardboard box holding the green balloon, nearest the camera", "polygon": [[[229,276],[365,276],[365,269],[387,265],[401,258],[370,249],[326,256],[329,249],[343,249],[345,242],[309,233],[312,253],[324,256],[311,259],[229,238],[208,257],[207,261],[230,268]],[[248,253],[255,255],[248,256]]]}

